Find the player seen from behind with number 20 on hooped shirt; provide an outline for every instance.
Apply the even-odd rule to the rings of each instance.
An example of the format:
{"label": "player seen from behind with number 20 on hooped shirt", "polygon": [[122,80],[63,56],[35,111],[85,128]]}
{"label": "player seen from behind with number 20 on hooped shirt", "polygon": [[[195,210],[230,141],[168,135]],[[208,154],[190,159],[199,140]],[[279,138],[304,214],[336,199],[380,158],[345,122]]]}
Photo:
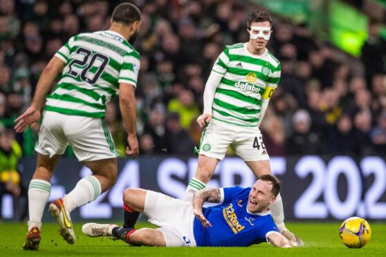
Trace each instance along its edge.
{"label": "player seen from behind with number 20 on hooped shirt", "polygon": [[118,91],[120,111],[129,135],[127,153],[133,157],[138,155],[134,90],[140,56],[131,45],[140,23],[140,10],[131,3],[121,3],[113,11],[109,30],[82,33],[69,39],[44,69],[30,108],[15,120],[17,132],[24,131],[28,125],[34,126],[39,121],[44,98],[62,73],[53,93],[46,97],[35,146],[37,167],[28,189],[30,216],[24,249],[39,247],[50,179],[68,144],[77,159],[93,173],[49,206],[51,215],[59,223],[59,233],[68,243],[75,242],[71,211],[95,200],[116,182],[117,151],[104,122],[104,112],[107,102],[118,95]]}

